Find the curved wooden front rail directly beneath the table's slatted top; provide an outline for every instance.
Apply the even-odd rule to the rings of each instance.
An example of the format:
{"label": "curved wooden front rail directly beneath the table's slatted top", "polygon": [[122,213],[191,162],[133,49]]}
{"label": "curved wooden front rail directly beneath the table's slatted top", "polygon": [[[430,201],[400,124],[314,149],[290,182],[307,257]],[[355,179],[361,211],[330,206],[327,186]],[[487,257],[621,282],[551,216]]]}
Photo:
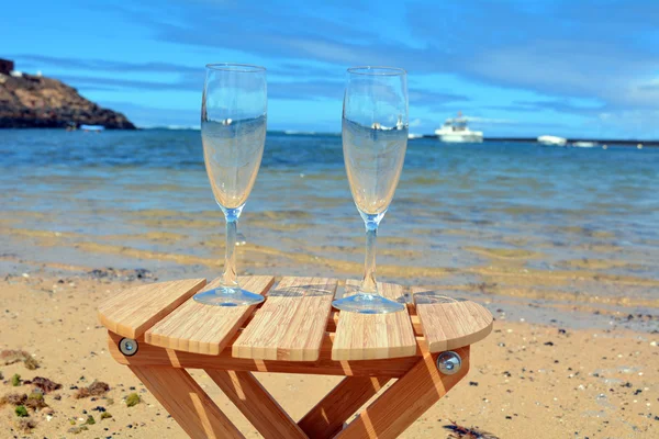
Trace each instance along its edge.
{"label": "curved wooden front rail directly beneath the table's slatted top", "polygon": [[333,336],[325,334],[321,345],[321,357],[317,361],[272,361],[234,358],[230,349],[224,349],[219,356],[182,352],[147,345],[142,338],[137,339],[139,344],[137,353],[125,357],[118,348],[121,336],[112,333],[109,333],[109,336],[108,350],[112,358],[121,364],[339,376],[401,376],[418,361],[422,352],[421,346],[425,346],[424,339],[417,340],[420,349],[415,357],[388,360],[334,361],[332,360]]}

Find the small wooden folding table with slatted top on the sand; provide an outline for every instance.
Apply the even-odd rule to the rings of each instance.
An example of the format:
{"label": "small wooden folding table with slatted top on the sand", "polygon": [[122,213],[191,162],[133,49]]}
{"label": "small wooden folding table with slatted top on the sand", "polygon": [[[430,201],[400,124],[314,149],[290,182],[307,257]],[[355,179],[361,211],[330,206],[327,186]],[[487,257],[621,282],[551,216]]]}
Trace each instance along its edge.
{"label": "small wooden folding table with slatted top on the sand", "polygon": [[[405,302],[406,312],[335,312],[337,281],[324,278],[288,277],[276,288],[273,277],[242,278],[244,289],[266,295],[259,306],[192,300],[217,284],[145,284],[99,307],[112,357],[192,438],[243,435],[186,369],[203,369],[265,438],[395,438],[467,374],[470,345],[492,329],[492,315],[477,303],[405,294],[389,283],[381,294]],[[295,421],[253,372],[345,378]]]}

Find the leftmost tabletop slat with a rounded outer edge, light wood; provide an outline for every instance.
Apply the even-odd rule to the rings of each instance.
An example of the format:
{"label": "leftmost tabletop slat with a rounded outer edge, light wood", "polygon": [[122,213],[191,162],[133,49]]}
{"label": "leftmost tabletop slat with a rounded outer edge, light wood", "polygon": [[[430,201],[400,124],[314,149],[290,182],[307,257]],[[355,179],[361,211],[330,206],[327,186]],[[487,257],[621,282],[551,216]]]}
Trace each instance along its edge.
{"label": "leftmost tabletop slat with a rounded outer edge, light wood", "polygon": [[101,324],[137,338],[205,285],[205,279],[159,282],[124,290],[99,306]]}

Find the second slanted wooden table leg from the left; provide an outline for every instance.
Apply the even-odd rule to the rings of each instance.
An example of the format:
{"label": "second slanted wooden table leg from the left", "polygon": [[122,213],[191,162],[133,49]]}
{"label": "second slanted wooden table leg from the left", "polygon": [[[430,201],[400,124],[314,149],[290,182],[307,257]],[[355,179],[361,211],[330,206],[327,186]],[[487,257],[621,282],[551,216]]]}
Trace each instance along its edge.
{"label": "second slanted wooden table leg from the left", "polygon": [[265,439],[306,439],[252,372],[206,369],[205,372]]}

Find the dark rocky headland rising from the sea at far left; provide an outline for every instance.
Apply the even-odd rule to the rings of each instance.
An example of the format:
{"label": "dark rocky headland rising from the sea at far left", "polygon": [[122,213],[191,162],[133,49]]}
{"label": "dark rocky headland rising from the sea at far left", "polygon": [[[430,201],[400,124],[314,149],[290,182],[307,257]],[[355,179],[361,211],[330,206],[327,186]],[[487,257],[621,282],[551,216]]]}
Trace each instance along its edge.
{"label": "dark rocky headland rising from the sea at far left", "polygon": [[25,74],[10,76],[8,63],[11,61],[0,59],[0,128],[65,128],[87,124],[135,130],[123,114],[88,101],[57,79]]}

